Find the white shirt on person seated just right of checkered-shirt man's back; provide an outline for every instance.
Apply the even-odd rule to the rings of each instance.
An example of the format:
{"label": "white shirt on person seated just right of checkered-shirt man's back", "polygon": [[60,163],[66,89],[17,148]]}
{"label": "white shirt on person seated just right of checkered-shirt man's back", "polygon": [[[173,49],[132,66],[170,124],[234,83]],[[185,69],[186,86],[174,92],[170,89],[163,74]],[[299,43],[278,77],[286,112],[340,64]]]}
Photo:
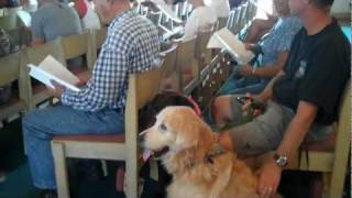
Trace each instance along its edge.
{"label": "white shirt on person seated just right of checkered-shirt man's back", "polygon": [[196,8],[186,22],[183,42],[193,40],[198,32],[211,31],[217,21],[217,15],[209,7]]}

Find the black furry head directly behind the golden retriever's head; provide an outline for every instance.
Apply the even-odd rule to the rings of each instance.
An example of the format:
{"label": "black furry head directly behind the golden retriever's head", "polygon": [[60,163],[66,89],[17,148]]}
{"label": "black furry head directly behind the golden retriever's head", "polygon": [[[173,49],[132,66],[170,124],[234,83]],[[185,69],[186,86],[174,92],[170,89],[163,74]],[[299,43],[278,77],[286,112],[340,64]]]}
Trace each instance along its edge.
{"label": "black furry head directly behind the golden retriever's head", "polygon": [[198,106],[186,96],[175,91],[164,90],[163,92],[156,95],[151,102],[146,103],[144,108],[140,110],[139,131],[144,131],[152,127],[156,121],[155,117],[157,113],[168,106],[186,106],[193,109],[198,108]]}

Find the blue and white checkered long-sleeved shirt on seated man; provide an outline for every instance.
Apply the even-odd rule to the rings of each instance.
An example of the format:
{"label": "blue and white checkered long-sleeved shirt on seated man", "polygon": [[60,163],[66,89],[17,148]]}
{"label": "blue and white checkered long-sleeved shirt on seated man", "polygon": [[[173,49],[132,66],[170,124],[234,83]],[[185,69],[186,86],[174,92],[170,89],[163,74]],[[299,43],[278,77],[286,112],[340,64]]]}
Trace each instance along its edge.
{"label": "blue and white checkered long-sleeved shirt on seated man", "polygon": [[152,69],[158,53],[154,24],[133,10],[124,11],[109,25],[87,87],[80,91],[65,90],[63,105],[84,111],[124,109],[129,75]]}

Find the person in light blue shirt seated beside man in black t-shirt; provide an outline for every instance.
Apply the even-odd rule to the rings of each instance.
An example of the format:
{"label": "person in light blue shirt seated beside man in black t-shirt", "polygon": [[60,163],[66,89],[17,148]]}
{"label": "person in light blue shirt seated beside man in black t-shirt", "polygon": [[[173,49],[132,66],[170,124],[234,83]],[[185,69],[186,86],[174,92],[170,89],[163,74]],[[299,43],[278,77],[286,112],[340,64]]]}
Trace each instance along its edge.
{"label": "person in light blue shirt seated beside man in black t-shirt", "polygon": [[[270,31],[261,44],[246,44],[254,53],[263,54],[258,67],[241,65],[239,74],[242,79],[232,78],[220,91],[227,94],[258,94],[272,77],[274,77],[286,63],[288,51],[295,34],[301,29],[301,21],[289,12],[288,0],[274,0],[279,20]],[[257,80],[251,81],[253,77]]]}

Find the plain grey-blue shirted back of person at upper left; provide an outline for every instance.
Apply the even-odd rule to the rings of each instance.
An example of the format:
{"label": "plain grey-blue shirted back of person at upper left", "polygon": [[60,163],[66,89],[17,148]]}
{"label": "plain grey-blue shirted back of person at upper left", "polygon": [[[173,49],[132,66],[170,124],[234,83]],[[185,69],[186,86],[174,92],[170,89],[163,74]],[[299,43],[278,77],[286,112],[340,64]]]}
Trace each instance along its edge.
{"label": "plain grey-blue shirted back of person at upper left", "polygon": [[58,36],[81,33],[80,21],[77,12],[61,2],[44,2],[32,18],[33,40],[44,43]]}

